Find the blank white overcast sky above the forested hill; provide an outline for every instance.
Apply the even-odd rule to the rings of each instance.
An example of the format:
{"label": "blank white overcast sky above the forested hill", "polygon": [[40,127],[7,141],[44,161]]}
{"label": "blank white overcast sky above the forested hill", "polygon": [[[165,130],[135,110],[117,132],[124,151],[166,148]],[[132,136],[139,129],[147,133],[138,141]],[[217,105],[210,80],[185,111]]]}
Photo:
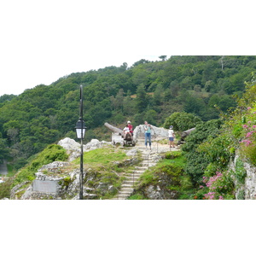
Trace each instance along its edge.
{"label": "blank white overcast sky above the forested hill", "polygon": [[[243,8],[229,8],[218,0],[211,9],[196,0],[0,0],[0,96],[159,55],[253,55],[236,51],[253,33]],[[254,24],[253,9],[244,10]]]}

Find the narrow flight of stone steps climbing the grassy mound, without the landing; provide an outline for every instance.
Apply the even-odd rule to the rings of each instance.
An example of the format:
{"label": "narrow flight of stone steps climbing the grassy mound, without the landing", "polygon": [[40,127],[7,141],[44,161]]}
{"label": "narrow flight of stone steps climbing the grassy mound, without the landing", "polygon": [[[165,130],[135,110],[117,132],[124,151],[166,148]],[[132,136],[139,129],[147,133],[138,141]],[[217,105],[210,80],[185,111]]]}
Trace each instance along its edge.
{"label": "narrow flight of stone steps climbing the grassy mound, without the landing", "polygon": [[134,184],[137,182],[138,178],[141,177],[143,172],[148,170],[148,167],[156,165],[156,162],[152,157],[152,151],[146,150],[145,147],[140,147],[137,149],[141,151],[143,157],[141,166],[135,166],[135,169],[125,176],[126,180],[122,184],[121,189],[119,190],[119,194],[116,195],[113,200],[127,199],[133,192]]}

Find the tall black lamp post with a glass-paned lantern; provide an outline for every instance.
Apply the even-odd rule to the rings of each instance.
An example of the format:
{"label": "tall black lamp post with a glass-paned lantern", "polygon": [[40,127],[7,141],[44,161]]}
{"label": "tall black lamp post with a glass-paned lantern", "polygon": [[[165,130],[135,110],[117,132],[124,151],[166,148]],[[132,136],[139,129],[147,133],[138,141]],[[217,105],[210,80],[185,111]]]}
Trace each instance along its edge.
{"label": "tall black lamp post with a glass-paned lantern", "polygon": [[83,199],[83,154],[84,154],[84,148],[83,148],[83,139],[85,136],[85,123],[83,120],[83,86],[80,85],[80,118],[77,122],[77,125],[75,127],[77,131],[77,137],[81,139],[81,154],[80,154],[80,176],[79,176],[79,186],[80,186],[80,192],[79,192],[79,199]]}

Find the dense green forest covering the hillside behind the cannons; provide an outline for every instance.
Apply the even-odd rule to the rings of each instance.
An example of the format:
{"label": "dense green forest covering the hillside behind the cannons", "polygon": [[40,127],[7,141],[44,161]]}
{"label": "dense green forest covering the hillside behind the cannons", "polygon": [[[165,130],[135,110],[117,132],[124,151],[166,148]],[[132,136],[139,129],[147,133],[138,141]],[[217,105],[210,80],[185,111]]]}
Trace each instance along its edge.
{"label": "dense green forest covering the hillside behind the cannons", "polygon": [[[108,137],[102,126],[106,121],[122,126],[130,119],[135,126],[147,119],[152,125],[162,126],[174,113],[189,113],[205,123],[213,122],[210,126],[214,133],[220,126],[220,114],[237,107],[245,81],[252,81],[255,68],[255,56],[166,59],[162,55],[160,61],[140,60],[131,67],[123,63],[120,67],[72,73],[19,96],[1,96],[0,160],[9,160],[18,170],[50,143],[63,137],[75,138],[80,84],[84,88],[87,141]],[[196,174],[193,181],[198,181]]]}

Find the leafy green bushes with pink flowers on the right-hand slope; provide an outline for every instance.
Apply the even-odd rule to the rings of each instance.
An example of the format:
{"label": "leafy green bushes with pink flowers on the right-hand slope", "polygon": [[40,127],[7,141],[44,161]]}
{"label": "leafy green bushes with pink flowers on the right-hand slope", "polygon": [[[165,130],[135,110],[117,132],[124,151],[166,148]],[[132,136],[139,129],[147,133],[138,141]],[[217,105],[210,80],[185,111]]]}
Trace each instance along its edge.
{"label": "leafy green bushes with pink flowers on the right-hand slope", "polygon": [[[256,165],[255,92],[255,82],[247,84],[246,93],[238,100],[239,108],[230,116],[222,116],[222,127],[215,135],[213,133],[213,136],[201,139],[197,146],[195,135],[199,130],[196,129],[188,137],[183,147],[187,157],[186,171],[194,178],[195,185],[199,186],[201,182],[206,184],[201,185],[195,194],[197,199],[235,199],[235,191],[238,191],[238,199],[244,199],[241,186],[245,183],[247,172],[243,162]],[[196,154],[191,153],[192,148]],[[229,170],[228,164],[235,153],[241,158],[236,160],[236,169],[233,171]],[[198,172],[200,167],[201,172]]]}

